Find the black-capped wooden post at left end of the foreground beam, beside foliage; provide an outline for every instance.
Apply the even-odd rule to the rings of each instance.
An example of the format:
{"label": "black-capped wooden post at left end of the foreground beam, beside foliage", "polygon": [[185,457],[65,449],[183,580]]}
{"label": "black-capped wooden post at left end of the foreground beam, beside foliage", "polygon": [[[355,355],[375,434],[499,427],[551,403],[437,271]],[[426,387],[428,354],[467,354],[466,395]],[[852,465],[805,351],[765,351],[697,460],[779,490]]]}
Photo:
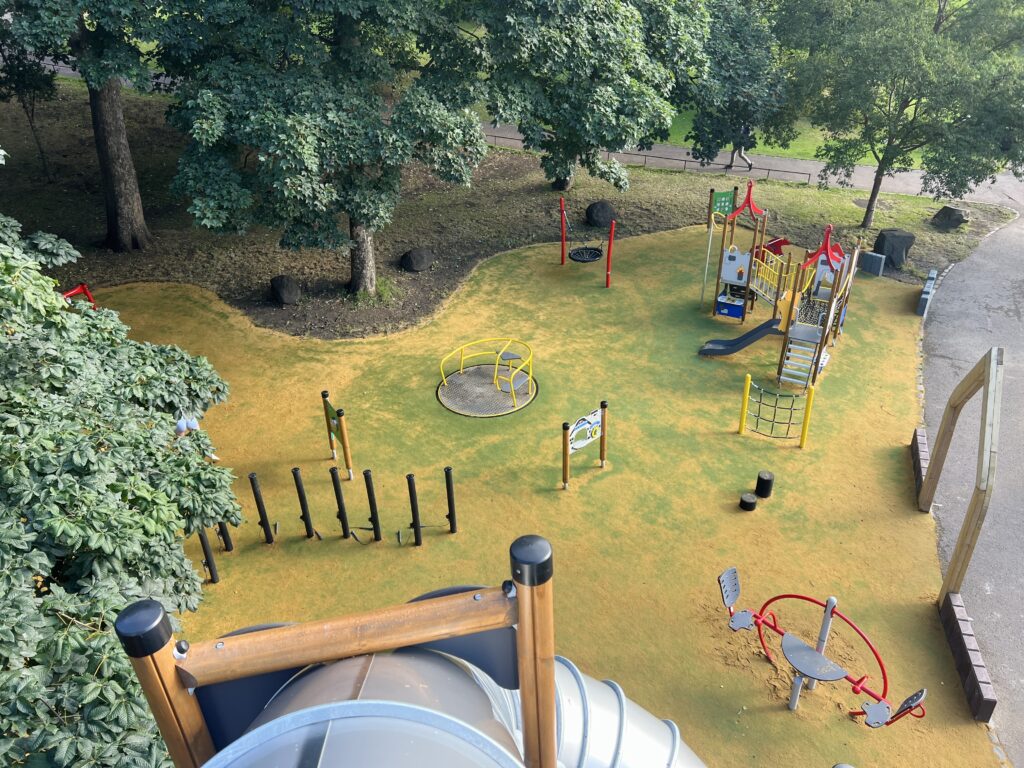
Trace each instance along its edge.
{"label": "black-capped wooden post at left end of the foreground beam, beside foliage", "polygon": [[214,755],[213,740],[199,701],[178,679],[171,620],[164,606],[156,600],[133,603],[121,611],[114,629],[131,658],[174,765],[203,765]]}

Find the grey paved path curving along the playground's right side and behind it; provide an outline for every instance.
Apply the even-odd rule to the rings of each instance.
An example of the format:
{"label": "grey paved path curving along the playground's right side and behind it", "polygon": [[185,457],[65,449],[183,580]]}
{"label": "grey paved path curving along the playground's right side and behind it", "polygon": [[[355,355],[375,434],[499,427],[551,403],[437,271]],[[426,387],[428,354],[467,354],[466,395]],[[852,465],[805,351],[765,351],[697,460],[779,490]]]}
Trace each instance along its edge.
{"label": "grey paved path curving along the playground's right side and behind it", "polygon": [[[495,143],[515,143],[515,132],[506,127],[487,126],[485,130],[496,136],[492,139]],[[685,148],[664,144],[647,154],[620,159],[650,167],[699,170]],[[709,170],[721,172],[728,156],[717,160]],[[810,181],[816,180],[821,169],[820,163],[812,161],[753,155],[751,160],[753,172],[744,168],[730,175]],[[869,188],[872,173],[871,168],[858,167],[853,185]],[[918,195],[921,176],[918,171],[900,173],[885,179],[882,188]],[[997,203],[1021,214],[1024,183],[1002,174],[995,183],[975,190],[969,200]],[[999,459],[985,527],[962,594],[995,685],[998,705],[993,723],[998,741],[1009,762],[1024,768],[1024,217],[993,232],[957,264],[932,302],[925,324],[924,374],[925,420],[933,438],[949,393],[991,346],[1006,350]],[[977,401],[961,415],[936,496],[933,512],[943,570],[974,488],[979,418]],[[910,435],[906,437],[909,442]],[[898,579],[897,564],[893,567],[893,578]]]}

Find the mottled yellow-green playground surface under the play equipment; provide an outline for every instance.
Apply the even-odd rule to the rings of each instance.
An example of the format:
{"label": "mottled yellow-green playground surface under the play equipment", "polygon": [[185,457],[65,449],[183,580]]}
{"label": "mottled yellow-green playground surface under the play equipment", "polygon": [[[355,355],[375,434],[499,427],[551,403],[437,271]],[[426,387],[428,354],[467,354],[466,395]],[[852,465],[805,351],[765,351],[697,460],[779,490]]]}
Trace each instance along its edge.
{"label": "mottled yellow-green playground surface under the play equipment", "polygon": [[[697,306],[703,243],[700,227],[622,240],[611,290],[600,264],[559,266],[557,246],[504,253],[424,324],[368,339],[259,329],[194,287],[100,291],[135,338],[208,356],[231,387],[203,424],[239,477],[249,521],[236,531],[236,551],[218,554],[221,582],[184,617],[185,636],[358,611],[452,584],[499,584],[508,578],[508,545],[536,532],[555,551],[557,651],[674,719],[713,768],[997,765],[939,625],[935,525],[913,500],[906,444],[921,415],[919,289],[858,279],[801,451],[736,434],[743,375],[771,384],[778,339],[734,357],[695,354],[705,339],[741,331]],[[748,327],[763,316],[759,307]],[[492,335],[532,345],[538,398],[498,419],[443,410],[440,358]],[[349,421],[357,480],[344,487],[353,520],[367,514],[358,470],[374,470],[386,532],[379,544],[340,539],[322,389]],[[597,467],[591,445],[573,457],[571,488],[560,490],[560,425],[601,399],[610,402],[608,467]],[[425,521],[438,523],[445,465],[455,468],[460,532],[430,529],[422,549],[399,548],[406,473],[417,475]],[[295,466],[322,542],[302,536]],[[739,512],[738,496],[761,469],[775,473],[776,492],[756,512]],[[251,471],[281,523],[273,546],[261,543]],[[187,551],[198,565],[197,544]],[[743,582],[742,607],[782,592],[836,595],[881,649],[892,697],[928,688],[928,717],[870,730],[843,714],[863,696],[836,684],[786,711],[786,670],[761,655],[755,636],[726,626],[716,578],[730,565]],[[819,611],[783,607],[780,618],[811,639]],[[848,635],[829,647],[851,671],[872,672]]]}

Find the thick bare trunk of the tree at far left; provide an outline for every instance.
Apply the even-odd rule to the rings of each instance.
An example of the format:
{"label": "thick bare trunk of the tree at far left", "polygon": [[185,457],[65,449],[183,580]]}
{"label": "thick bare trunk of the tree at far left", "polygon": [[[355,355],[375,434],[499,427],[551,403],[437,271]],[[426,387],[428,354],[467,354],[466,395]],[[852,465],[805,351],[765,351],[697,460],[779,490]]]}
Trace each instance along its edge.
{"label": "thick bare trunk of the tree at far left", "polygon": [[89,106],[106,207],[106,245],[115,251],[145,248],[150,243],[150,229],[145,225],[135,164],[128,146],[121,81],[112,78],[99,90],[90,87]]}

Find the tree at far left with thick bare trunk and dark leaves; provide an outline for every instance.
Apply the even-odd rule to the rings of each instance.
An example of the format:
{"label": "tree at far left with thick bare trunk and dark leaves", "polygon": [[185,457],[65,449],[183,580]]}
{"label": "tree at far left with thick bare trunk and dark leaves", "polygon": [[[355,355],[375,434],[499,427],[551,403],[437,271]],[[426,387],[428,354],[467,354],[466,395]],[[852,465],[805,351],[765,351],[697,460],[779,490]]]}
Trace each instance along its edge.
{"label": "tree at far left with thick bare trunk and dark leaves", "polygon": [[92,133],[106,212],[106,245],[117,251],[145,248],[150,229],[142,211],[128,144],[121,90],[125,81],[148,89],[147,50],[160,35],[160,3],[145,0],[0,0],[18,40],[38,55],[74,66],[89,90]]}

